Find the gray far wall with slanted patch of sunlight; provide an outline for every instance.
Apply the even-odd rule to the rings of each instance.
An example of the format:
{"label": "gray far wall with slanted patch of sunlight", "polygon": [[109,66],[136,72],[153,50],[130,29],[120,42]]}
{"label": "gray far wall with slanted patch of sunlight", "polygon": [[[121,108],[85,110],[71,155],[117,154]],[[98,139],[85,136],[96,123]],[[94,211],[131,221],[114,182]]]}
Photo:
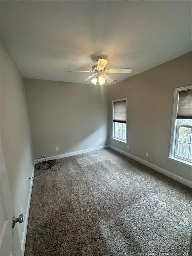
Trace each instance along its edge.
{"label": "gray far wall with slanted patch of sunlight", "polygon": [[24,82],[35,159],[108,144],[106,86],[28,78]]}

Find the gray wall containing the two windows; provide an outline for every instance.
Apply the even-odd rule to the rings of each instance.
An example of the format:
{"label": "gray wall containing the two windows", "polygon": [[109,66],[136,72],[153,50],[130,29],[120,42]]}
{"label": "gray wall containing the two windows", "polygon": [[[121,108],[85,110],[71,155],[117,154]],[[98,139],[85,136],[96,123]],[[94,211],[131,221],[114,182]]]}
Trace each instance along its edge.
{"label": "gray wall containing the two windows", "polygon": [[[111,100],[128,98],[128,143],[112,146],[191,180],[191,168],[168,160],[174,89],[191,85],[191,53],[132,76],[109,87]],[[149,157],[146,157],[146,152]]]}

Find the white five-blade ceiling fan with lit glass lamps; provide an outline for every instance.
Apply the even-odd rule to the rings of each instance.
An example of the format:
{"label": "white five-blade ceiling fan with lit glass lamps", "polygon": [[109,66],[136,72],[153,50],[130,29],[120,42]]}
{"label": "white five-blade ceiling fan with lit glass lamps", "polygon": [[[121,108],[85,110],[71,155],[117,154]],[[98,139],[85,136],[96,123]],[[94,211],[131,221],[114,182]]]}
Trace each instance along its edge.
{"label": "white five-blade ceiling fan with lit glass lamps", "polygon": [[98,62],[97,65],[92,66],[91,71],[67,71],[67,72],[87,72],[87,73],[93,73],[89,77],[87,77],[85,80],[83,80],[81,83],[85,83],[89,81],[91,78],[91,82],[93,84],[100,85],[107,83],[112,83],[113,80],[106,74],[108,73],[131,73],[131,68],[119,68],[119,69],[106,69],[106,65],[108,63],[108,60],[102,59],[101,56],[95,57],[96,61]]}

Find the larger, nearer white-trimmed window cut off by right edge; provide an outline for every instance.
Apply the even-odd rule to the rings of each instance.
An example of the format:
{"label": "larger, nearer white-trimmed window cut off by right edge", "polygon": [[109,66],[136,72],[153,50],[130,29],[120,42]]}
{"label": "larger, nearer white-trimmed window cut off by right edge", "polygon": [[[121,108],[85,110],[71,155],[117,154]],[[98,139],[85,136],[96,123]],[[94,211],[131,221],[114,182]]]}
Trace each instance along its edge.
{"label": "larger, nearer white-trimmed window cut off by right edge", "polygon": [[191,86],[175,89],[172,135],[169,158],[192,162],[192,90]]}

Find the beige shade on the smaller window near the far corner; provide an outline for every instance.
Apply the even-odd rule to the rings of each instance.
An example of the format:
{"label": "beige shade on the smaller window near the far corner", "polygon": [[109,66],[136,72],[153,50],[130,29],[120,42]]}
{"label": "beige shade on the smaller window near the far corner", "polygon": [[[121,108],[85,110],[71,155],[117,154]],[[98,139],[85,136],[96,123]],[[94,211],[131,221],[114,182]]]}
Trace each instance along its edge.
{"label": "beige shade on the smaller window near the far corner", "polygon": [[113,122],[126,123],[126,100],[113,102]]}

